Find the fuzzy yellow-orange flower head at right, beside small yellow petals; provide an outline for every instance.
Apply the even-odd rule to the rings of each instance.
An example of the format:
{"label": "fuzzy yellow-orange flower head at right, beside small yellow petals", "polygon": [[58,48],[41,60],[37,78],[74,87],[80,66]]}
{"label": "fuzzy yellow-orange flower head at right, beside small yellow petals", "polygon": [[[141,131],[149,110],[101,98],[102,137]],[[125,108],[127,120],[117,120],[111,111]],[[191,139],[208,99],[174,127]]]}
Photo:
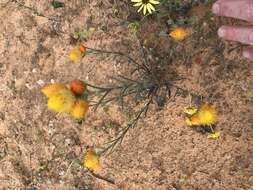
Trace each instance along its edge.
{"label": "fuzzy yellow-orange flower head at right, beside small yellow petals", "polygon": [[203,104],[197,113],[186,120],[186,124],[193,125],[213,125],[217,122],[218,116],[216,110],[209,104]]}

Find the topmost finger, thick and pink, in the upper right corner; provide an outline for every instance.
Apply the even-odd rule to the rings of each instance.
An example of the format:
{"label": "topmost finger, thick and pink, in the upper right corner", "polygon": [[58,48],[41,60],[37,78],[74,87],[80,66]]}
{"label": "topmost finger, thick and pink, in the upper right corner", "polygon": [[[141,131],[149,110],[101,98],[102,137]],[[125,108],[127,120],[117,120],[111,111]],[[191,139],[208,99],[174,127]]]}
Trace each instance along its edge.
{"label": "topmost finger, thick and pink, in the upper right corner", "polygon": [[212,7],[214,14],[253,21],[252,0],[219,0]]}

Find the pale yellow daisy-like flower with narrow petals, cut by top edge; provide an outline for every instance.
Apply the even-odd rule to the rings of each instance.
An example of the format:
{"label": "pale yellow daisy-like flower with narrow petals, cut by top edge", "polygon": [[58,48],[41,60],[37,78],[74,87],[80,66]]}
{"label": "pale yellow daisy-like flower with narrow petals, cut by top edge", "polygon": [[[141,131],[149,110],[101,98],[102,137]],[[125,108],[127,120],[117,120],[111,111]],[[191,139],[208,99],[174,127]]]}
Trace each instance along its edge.
{"label": "pale yellow daisy-like flower with narrow petals, cut by top edge", "polygon": [[153,5],[158,5],[160,3],[159,0],[131,0],[131,2],[135,3],[135,7],[139,7],[138,12],[143,10],[143,14],[146,15],[147,11],[149,14],[155,11]]}

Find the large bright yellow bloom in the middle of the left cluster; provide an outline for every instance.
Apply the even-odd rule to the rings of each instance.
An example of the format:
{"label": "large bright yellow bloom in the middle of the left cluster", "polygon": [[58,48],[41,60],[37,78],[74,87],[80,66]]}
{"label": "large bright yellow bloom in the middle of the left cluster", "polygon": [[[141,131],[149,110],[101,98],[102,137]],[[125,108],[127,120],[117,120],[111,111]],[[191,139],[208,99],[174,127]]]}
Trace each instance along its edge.
{"label": "large bright yellow bloom in the middle of the left cluster", "polygon": [[75,100],[76,98],[70,90],[62,89],[48,99],[48,109],[58,113],[69,113],[75,104]]}

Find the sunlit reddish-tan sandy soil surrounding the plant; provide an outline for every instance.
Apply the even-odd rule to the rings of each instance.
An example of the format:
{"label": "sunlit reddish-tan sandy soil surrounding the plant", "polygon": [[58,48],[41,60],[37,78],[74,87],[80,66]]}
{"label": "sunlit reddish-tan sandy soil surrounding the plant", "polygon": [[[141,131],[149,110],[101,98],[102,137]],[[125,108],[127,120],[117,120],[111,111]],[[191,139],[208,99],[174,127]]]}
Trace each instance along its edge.
{"label": "sunlit reddish-tan sandy soil surrounding the plant", "polygon": [[17,2],[0,2],[0,189],[252,189],[253,101],[247,92],[253,87],[253,64],[239,50],[229,54],[231,44],[224,42],[226,61],[176,67],[187,76],[180,85],[208,97],[219,111],[221,138],[210,140],[185,126],[187,98],[162,109],[154,104],[120,148],[102,159],[99,173],[112,178],[111,185],[91,176],[80,162],[87,146],[100,146],[116,133],[106,124],[124,124],[120,108],[90,112],[78,123],[48,111],[40,89],[75,78],[100,85],[127,70],[124,60],[91,56],[73,64],[67,55],[75,47],[70,35],[94,27],[88,46],[139,57],[124,21],[128,4],[75,0],[54,9],[49,1]]}

